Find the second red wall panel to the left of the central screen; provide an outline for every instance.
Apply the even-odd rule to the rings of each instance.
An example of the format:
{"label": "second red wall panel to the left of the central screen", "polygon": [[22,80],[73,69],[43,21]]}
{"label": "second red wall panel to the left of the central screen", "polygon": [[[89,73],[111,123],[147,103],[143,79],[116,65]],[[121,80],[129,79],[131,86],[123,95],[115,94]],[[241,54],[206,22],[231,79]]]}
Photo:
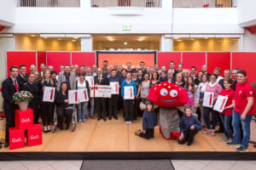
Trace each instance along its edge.
{"label": "second red wall panel to the left of the central screen", "polygon": [[47,65],[53,65],[55,71],[59,71],[61,65],[70,65],[70,52],[47,52]]}

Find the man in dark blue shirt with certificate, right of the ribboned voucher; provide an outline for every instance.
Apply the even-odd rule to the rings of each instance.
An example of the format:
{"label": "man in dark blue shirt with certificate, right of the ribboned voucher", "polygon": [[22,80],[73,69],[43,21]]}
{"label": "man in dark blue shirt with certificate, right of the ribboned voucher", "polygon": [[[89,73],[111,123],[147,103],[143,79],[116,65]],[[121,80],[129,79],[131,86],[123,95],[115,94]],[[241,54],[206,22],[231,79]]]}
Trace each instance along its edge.
{"label": "man in dark blue shirt with certificate, right of the ribboned voucher", "polygon": [[111,98],[108,98],[108,119],[111,120],[112,116],[115,120],[117,117],[117,105],[119,99],[119,77],[116,76],[116,70],[111,71],[111,77],[108,77],[108,82],[111,87]]}

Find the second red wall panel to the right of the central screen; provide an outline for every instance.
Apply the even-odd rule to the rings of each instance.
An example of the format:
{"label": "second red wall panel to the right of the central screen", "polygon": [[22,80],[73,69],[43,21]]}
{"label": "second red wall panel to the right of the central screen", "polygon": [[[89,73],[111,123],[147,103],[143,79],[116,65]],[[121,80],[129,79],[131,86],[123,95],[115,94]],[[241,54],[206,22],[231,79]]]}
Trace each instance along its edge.
{"label": "second red wall panel to the right of the central screen", "polygon": [[206,65],[206,53],[204,52],[183,52],[184,69],[189,69],[195,66],[196,71],[201,71],[201,65]]}

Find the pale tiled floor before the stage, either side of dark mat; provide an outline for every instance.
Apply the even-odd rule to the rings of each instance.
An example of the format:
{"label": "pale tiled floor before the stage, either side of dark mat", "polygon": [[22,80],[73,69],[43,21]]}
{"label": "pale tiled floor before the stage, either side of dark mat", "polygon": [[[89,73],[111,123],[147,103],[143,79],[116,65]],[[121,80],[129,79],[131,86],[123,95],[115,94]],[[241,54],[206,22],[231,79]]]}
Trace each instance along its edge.
{"label": "pale tiled floor before the stage, either side of dark mat", "polygon": [[[0,161],[0,170],[79,170],[83,161]],[[176,170],[253,170],[256,161],[172,160]]]}

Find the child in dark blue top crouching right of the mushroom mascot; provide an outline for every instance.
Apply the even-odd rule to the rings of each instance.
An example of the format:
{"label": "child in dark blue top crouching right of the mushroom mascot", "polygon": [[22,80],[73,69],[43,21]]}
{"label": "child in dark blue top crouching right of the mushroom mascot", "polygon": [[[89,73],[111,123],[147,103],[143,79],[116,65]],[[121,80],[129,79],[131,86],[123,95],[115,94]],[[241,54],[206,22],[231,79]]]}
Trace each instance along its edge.
{"label": "child in dark blue top crouching right of the mushroom mascot", "polygon": [[192,115],[190,106],[186,106],[184,112],[184,116],[182,116],[179,122],[181,134],[177,139],[177,143],[184,144],[188,141],[187,145],[191,145],[194,141],[195,134],[201,130],[201,122]]}

